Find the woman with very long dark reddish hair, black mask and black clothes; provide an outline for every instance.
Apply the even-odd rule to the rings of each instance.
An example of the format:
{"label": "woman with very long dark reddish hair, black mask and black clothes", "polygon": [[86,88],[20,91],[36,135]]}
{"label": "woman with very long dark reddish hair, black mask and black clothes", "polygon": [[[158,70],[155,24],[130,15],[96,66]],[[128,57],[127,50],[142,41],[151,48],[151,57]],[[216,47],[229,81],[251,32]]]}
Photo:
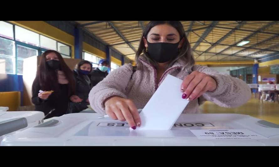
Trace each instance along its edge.
{"label": "woman with very long dark reddish hair, black mask and black clothes", "polygon": [[[40,90],[53,92],[44,94],[39,92]],[[82,101],[74,94],[75,81],[71,69],[60,53],[55,50],[45,51],[32,85],[32,103],[35,105],[35,110],[48,114],[45,119],[59,117],[66,114],[70,100]]]}

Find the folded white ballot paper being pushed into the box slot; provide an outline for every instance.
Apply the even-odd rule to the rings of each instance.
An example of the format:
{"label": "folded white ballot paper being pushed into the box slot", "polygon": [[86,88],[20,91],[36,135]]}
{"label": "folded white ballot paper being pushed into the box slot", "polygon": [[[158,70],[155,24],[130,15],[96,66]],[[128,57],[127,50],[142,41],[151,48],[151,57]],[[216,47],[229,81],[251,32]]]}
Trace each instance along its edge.
{"label": "folded white ballot paper being pushed into the box slot", "polygon": [[188,104],[182,99],[182,80],[167,75],[140,113],[137,130],[169,130]]}

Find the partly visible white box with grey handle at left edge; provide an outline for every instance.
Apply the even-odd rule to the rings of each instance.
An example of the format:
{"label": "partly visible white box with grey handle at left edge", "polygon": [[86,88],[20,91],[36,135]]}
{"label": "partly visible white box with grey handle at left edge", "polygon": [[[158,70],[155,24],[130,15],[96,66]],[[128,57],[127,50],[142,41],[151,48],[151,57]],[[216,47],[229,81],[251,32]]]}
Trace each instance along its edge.
{"label": "partly visible white box with grey handle at left edge", "polygon": [[1,111],[0,141],[19,131],[43,122],[44,112],[40,111]]}

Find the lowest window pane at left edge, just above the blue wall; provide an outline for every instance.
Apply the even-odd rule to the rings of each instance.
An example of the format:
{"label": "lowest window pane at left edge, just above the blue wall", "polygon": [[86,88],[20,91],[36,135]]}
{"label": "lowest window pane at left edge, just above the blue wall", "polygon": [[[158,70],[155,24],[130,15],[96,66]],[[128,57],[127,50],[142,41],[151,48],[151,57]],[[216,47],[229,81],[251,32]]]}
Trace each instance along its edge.
{"label": "lowest window pane at left edge, just above the blue wall", "polygon": [[0,56],[0,73],[14,74],[15,58]]}

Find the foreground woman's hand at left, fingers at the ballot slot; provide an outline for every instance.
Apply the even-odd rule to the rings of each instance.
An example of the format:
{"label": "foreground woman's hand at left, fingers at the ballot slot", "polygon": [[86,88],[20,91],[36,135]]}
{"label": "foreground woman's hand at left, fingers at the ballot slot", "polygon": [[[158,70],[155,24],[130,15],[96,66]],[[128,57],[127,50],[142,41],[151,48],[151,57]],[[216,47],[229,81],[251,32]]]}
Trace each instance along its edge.
{"label": "foreground woman's hand at left, fingers at the ballot slot", "polygon": [[106,114],[112,119],[127,121],[133,129],[140,127],[140,114],[132,100],[113,96],[106,99],[104,105]]}

